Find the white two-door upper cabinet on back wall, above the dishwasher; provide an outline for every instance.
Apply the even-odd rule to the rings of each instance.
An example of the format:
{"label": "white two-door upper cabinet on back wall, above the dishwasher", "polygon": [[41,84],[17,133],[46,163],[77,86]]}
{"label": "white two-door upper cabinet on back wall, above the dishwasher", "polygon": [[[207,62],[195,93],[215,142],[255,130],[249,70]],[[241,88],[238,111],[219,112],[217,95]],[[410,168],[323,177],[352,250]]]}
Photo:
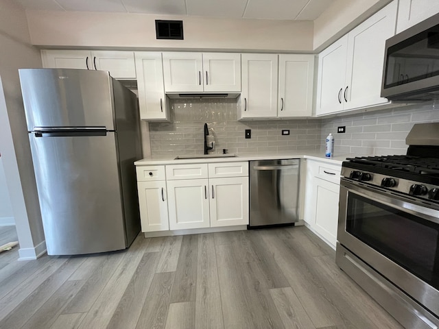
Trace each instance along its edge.
{"label": "white two-door upper cabinet on back wall, above the dishwasher", "polygon": [[311,117],[313,55],[243,53],[239,119]]}

